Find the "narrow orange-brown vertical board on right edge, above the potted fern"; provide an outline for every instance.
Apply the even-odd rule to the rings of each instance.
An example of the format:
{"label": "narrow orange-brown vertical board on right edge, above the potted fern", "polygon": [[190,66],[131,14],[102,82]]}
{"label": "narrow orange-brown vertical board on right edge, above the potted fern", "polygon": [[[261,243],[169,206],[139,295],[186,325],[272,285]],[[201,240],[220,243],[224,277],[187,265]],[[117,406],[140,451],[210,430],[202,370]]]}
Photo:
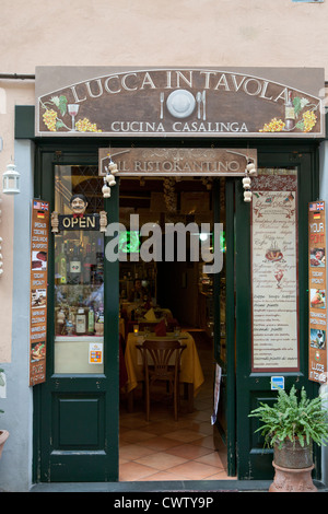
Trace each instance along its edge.
{"label": "narrow orange-brown vertical board on right edge, above the potted fern", "polygon": [[325,202],[308,206],[308,378],[327,382],[326,300],[326,212]]}

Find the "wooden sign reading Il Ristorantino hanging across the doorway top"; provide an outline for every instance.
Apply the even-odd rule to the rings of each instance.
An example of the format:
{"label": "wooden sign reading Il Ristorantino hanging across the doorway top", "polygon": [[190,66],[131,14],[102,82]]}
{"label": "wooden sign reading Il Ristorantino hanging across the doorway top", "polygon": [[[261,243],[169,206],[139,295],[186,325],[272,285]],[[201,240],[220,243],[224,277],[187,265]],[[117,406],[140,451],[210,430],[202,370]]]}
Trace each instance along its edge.
{"label": "wooden sign reading Il Ristorantino hanging across the doorway top", "polygon": [[256,149],[102,148],[101,176],[106,175],[109,157],[118,176],[245,176],[248,160],[257,168]]}

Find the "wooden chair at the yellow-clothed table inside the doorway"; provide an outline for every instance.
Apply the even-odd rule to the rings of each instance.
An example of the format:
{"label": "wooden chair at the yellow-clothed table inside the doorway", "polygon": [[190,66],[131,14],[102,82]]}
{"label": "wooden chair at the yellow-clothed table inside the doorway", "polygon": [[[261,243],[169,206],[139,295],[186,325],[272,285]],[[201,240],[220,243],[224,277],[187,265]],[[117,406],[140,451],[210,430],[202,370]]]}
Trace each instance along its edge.
{"label": "wooden chair at the yellow-clothed table inside the doorway", "polygon": [[157,381],[168,384],[168,393],[173,394],[174,419],[178,419],[179,404],[179,371],[180,357],[187,348],[177,339],[147,339],[143,344],[137,344],[142,353],[145,383],[145,418],[150,419],[150,388]]}

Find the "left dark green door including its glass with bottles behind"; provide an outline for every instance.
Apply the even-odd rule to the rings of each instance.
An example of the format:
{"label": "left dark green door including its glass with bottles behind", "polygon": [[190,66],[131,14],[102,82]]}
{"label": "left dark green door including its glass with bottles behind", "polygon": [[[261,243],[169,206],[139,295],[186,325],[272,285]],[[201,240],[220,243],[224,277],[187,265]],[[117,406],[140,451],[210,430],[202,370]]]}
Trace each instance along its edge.
{"label": "left dark green door including its glass with bottles behind", "polygon": [[[37,195],[51,212],[70,213],[83,192],[86,212],[115,220],[118,195],[104,202],[96,153],[58,162],[45,152],[40,164]],[[34,388],[40,481],[118,479],[118,265],[104,259],[107,241],[82,229],[51,234],[47,376]]]}

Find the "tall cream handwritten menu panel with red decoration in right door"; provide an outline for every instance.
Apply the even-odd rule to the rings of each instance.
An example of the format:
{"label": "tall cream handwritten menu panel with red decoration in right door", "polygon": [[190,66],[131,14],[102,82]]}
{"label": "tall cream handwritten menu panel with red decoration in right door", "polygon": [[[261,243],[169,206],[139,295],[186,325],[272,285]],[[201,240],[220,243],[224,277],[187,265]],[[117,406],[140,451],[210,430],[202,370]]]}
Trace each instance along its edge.
{"label": "tall cream handwritten menu panel with red decoration in right door", "polygon": [[290,170],[261,172],[251,180],[251,367],[296,371],[297,177]]}

